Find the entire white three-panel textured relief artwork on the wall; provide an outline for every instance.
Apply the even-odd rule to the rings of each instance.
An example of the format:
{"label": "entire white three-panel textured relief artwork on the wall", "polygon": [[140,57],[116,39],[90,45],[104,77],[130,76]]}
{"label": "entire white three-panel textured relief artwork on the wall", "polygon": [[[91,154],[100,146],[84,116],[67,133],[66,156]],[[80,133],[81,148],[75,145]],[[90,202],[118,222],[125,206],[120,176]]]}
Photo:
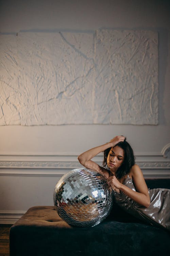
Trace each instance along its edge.
{"label": "entire white three-panel textured relief artwork on the wall", "polygon": [[157,124],[157,32],[0,36],[0,125]]}

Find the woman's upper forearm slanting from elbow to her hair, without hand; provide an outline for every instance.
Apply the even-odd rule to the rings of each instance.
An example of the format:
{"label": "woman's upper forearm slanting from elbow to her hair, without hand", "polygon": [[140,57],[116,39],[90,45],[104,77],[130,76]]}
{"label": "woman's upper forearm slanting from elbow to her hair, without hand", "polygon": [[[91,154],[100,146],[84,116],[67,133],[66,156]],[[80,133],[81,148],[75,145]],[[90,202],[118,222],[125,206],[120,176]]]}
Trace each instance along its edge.
{"label": "woman's upper forearm slanting from elbow to her hair, without hand", "polygon": [[94,158],[95,156],[97,156],[97,154],[103,152],[105,149],[112,147],[111,143],[105,143],[101,146],[95,147],[95,148],[91,148],[85,152],[83,152],[82,154],[80,154],[80,156],[78,156],[78,160],[79,162],[84,165],[86,162],[88,162],[90,159]]}

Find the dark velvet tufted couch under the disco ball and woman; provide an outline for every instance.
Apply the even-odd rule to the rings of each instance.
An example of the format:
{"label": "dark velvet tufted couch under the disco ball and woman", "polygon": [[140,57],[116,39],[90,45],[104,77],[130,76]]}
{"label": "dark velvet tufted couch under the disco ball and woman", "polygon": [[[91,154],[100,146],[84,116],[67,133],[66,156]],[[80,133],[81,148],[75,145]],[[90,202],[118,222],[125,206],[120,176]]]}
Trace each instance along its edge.
{"label": "dark velvet tufted couch under the disco ball and woman", "polygon": [[[170,188],[170,179],[148,179],[150,188]],[[30,208],[10,229],[11,256],[169,256],[170,233],[134,219],[116,204],[92,228],[69,226],[53,206]]]}

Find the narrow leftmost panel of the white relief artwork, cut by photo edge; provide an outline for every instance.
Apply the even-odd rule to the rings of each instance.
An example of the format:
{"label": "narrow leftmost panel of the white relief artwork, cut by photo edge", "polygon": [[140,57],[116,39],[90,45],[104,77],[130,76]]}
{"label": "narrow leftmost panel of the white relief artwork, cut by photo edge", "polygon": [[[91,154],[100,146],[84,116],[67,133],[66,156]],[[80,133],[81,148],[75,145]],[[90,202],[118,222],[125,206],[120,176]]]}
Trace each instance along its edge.
{"label": "narrow leftmost panel of the white relief artwork, cut by photo edge", "polygon": [[19,124],[16,36],[0,36],[0,125]]}

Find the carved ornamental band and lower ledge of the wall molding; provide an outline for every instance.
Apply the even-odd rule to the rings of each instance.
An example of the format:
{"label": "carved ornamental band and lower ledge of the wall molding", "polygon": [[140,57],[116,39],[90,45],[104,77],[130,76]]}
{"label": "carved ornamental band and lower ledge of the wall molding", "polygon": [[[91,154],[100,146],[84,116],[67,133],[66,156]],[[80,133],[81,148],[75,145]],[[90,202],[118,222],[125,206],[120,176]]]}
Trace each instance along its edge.
{"label": "carved ornamental band and lower ledge of the wall molding", "polygon": [[[97,162],[99,165],[100,162]],[[70,170],[80,168],[82,165],[79,162],[0,162],[0,176],[49,176],[61,177]],[[142,172],[147,177],[170,177],[170,162],[146,162],[140,161],[137,164],[142,169]]]}

